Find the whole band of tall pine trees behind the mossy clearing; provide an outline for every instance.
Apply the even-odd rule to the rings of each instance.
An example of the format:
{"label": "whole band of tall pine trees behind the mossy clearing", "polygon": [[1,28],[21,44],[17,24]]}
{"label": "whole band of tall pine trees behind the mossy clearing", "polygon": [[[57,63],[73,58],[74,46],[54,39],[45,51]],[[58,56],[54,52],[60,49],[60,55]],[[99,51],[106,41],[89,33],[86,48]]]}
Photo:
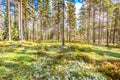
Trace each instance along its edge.
{"label": "whole band of tall pine trees behind the mossy clearing", "polygon": [[[120,44],[120,2],[84,0],[76,18],[74,0],[2,0],[1,40],[81,41]],[[79,23],[78,23],[79,22]]]}

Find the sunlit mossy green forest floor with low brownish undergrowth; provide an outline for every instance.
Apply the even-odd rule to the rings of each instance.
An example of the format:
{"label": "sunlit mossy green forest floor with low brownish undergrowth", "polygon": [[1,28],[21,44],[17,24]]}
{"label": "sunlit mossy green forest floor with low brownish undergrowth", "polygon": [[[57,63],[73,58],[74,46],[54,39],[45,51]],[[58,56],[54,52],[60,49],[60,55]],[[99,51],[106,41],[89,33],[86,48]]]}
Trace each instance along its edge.
{"label": "sunlit mossy green forest floor with low brownish undergrowth", "polygon": [[0,42],[0,80],[119,80],[120,49],[80,43]]}

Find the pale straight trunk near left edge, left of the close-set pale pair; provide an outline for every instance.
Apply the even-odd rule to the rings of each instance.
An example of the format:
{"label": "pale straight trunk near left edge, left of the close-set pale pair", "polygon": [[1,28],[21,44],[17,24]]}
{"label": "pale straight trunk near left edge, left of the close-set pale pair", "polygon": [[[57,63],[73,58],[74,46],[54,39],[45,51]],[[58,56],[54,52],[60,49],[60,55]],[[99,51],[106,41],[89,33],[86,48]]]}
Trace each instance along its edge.
{"label": "pale straight trunk near left edge, left of the close-set pale pair", "polygon": [[10,30],[10,0],[7,0],[7,26],[8,26],[8,40],[11,40]]}

